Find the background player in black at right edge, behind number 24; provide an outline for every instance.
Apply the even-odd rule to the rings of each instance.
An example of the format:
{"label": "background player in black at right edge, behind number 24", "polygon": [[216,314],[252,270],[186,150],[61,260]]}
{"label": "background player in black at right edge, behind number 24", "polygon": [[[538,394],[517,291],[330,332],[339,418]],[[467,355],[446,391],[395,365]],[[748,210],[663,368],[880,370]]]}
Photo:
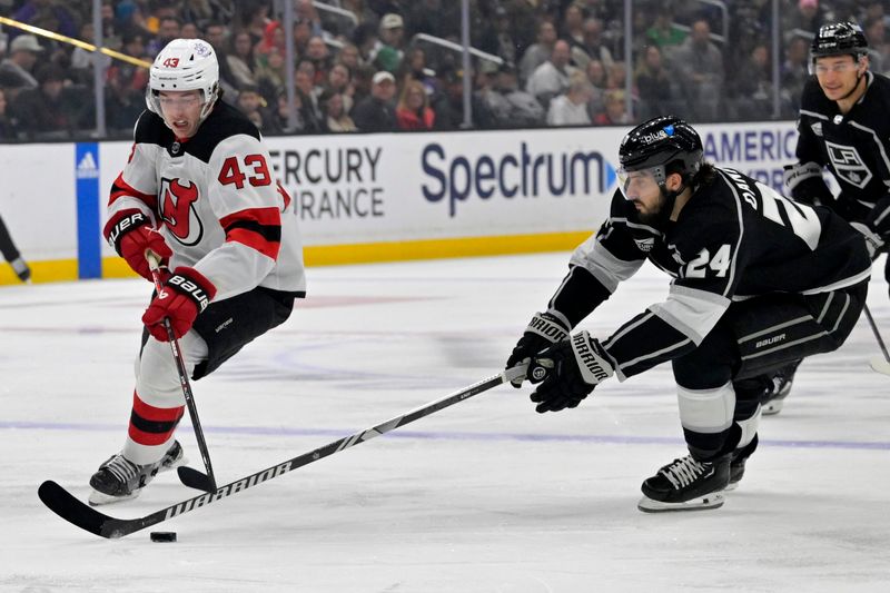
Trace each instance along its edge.
{"label": "background player in black at right edge, behind number 24", "polygon": [[[810,53],[815,76],[801,95],[799,162],[785,167],[785,182],[795,200],[850,221],[874,258],[890,239],[890,79],[869,71],[866,36],[851,22],[821,27]],[[837,197],[822,178],[825,167],[840,186]],[[787,393],[778,391],[764,411],[779,412]]]}

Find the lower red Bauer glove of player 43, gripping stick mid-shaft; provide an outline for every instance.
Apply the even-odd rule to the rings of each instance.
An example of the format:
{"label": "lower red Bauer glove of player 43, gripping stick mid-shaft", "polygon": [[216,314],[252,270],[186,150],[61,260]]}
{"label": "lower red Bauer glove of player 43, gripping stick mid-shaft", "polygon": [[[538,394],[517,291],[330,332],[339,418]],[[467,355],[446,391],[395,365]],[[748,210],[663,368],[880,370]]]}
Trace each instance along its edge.
{"label": "lower red Bauer glove of player 43, gripping stick mid-shaft", "polygon": [[142,323],[148,332],[160,342],[169,342],[164,319],[170,319],[174,336],[178,339],[191,329],[195,318],[207,308],[216,287],[198,270],[179,267],[174,270],[164,288],[148,305]]}

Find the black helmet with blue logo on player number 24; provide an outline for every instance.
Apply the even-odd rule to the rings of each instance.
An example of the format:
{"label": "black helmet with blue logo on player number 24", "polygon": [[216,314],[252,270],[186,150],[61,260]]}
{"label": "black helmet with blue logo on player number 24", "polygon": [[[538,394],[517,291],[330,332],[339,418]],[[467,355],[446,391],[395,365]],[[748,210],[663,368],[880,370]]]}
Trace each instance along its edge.
{"label": "black helmet with blue logo on player number 24", "polygon": [[650,170],[664,184],[679,172],[688,184],[702,164],[702,139],[692,126],[676,116],[652,118],[632,129],[619,147],[619,178],[624,188],[626,174]]}

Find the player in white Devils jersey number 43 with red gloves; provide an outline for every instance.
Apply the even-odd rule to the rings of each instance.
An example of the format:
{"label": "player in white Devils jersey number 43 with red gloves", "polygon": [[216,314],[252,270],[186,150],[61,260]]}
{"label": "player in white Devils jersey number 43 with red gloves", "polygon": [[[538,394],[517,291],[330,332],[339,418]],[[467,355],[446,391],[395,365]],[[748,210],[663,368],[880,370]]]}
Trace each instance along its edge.
{"label": "player in white Devils jersey number 43 with red gloves", "polygon": [[219,95],[209,43],[165,47],[111,188],[106,238],[146,279],[146,253],[159,256],[165,284],[142,315],[127,437],[90,478],[91,504],[132,498],[158,471],[182,463],[175,431],[185,399],[165,318],[199,379],[286,320],[305,296],[294,205],[273,178],[257,128]]}

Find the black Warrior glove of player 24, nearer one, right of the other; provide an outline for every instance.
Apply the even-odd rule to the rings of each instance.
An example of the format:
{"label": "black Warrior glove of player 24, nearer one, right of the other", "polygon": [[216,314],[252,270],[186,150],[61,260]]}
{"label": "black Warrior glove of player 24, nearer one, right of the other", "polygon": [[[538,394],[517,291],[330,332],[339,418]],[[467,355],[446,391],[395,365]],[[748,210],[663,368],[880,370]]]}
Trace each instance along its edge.
{"label": "black Warrior glove of player 24, nearer one, right of the other", "polygon": [[527,377],[541,383],[532,394],[535,412],[577,407],[601,382],[615,373],[614,363],[587,332],[558,342],[532,359]]}

